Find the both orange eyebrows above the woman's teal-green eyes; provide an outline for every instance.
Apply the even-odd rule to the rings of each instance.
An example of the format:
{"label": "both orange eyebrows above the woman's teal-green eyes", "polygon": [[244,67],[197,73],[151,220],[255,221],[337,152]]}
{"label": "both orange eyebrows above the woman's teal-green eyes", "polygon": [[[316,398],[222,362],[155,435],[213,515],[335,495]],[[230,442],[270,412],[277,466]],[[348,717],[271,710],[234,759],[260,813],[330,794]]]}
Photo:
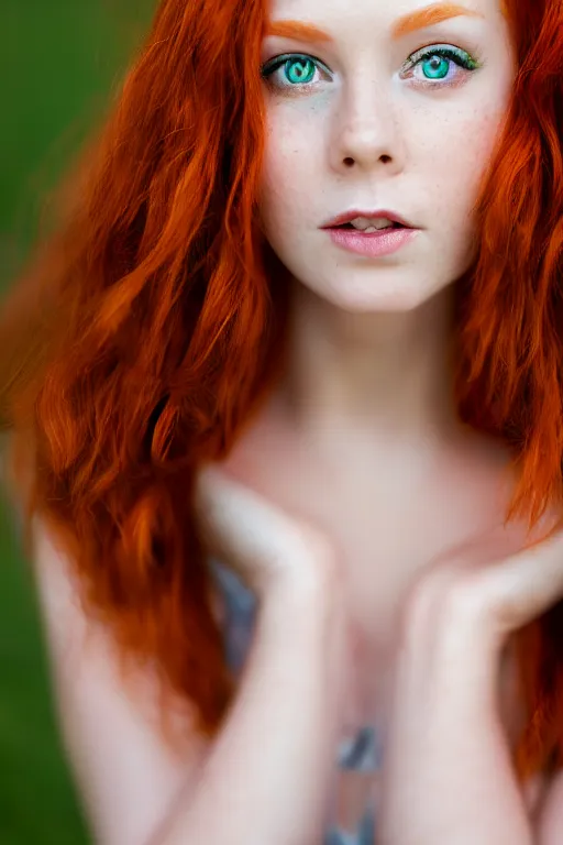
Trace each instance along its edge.
{"label": "both orange eyebrows above the woman's teal-green eyes", "polygon": [[[391,36],[394,40],[398,40],[417,30],[434,26],[438,23],[442,23],[442,21],[449,21],[461,15],[470,18],[484,17],[479,12],[474,12],[465,6],[459,6],[457,3],[432,3],[432,6],[427,6],[424,9],[419,9],[416,12],[410,12],[399,18],[393,25]],[[328,32],[312,23],[307,23],[307,21],[273,21],[268,25],[266,34],[306,42],[334,41]]]}

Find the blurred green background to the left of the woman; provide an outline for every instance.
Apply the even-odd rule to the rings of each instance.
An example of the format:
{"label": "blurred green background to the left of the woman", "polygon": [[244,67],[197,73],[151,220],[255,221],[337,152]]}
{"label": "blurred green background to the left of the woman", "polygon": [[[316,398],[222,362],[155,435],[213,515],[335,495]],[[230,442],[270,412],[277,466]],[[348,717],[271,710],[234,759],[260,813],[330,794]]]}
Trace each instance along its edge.
{"label": "blurred green background to the left of the woman", "polygon": [[[0,292],[33,242],[46,190],[103,116],[155,3],[1,0]],[[88,842],[57,736],[31,579],[0,502],[0,845]]]}

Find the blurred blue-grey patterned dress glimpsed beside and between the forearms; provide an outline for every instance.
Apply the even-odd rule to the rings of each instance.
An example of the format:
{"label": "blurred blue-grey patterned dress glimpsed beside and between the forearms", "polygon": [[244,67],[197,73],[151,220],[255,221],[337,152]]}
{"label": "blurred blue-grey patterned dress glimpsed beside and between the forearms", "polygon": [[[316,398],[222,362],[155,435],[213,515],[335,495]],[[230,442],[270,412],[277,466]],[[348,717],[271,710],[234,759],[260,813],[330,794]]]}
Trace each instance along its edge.
{"label": "blurred blue-grey patterned dress glimpsed beside and between the forearms", "polygon": [[[254,594],[218,561],[212,572],[223,602],[224,648],[239,674],[249,652],[256,614]],[[375,811],[382,744],[372,725],[361,726],[335,753],[333,789],[322,845],[375,845]]]}

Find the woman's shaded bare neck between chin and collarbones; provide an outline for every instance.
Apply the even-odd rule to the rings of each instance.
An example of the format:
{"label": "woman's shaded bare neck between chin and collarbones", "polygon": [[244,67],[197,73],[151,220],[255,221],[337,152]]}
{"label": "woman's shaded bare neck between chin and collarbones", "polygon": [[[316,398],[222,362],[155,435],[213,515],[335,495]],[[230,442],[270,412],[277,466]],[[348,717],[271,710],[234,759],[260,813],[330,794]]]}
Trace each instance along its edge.
{"label": "woman's shaded bare neck between chin and collarbones", "polygon": [[409,312],[350,314],[294,286],[289,359],[277,393],[291,427],[316,436],[361,427],[401,442],[460,430],[451,288]]}

